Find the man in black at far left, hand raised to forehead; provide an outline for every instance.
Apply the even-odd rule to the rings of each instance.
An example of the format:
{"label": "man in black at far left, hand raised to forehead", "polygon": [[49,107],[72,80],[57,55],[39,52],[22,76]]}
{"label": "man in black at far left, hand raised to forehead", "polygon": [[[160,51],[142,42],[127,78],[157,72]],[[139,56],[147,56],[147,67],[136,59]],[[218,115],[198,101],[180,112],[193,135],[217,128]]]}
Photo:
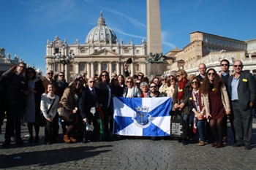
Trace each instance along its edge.
{"label": "man in black at far left, hand raised to forehead", "polygon": [[26,71],[26,63],[19,63],[18,66],[12,66],[10,70],[4,72],[2,77],[7,79],[7,88],[5,98],[7,101],[7,124],[5,131],[5,141],[3,147],[11,144],[11,136],[15,128],[16,144],[23,144],[20,138],[20,118],[26,106],[25,95],[29,91],[25,90],[25,77],[23,73]]}

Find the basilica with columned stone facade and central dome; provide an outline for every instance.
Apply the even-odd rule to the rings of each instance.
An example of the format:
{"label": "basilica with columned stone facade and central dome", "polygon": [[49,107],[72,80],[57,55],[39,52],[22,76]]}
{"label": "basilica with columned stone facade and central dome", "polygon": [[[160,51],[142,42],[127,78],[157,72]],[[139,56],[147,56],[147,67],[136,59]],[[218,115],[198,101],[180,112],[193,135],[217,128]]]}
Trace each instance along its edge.
{"label": "basilica with columned stone facade and central dome", "polygon": [[105,70],[110,74],[124,74],[124,63],[132,58],[129,64],[129,74],[146,74],[146,41],[134,45],[132,39],[124,44],[123,39],[117,39],[116,34],[109,28],[102,13],[97,26],[89,31],[85,42],[75,40],[67,44],[67,39],[61,41],[56,36],[52,42],[47,41],[45,66],[55,74],[63,72],[67,81],[73,79],[76,73],[85,73],[86,77],[97,77]]}

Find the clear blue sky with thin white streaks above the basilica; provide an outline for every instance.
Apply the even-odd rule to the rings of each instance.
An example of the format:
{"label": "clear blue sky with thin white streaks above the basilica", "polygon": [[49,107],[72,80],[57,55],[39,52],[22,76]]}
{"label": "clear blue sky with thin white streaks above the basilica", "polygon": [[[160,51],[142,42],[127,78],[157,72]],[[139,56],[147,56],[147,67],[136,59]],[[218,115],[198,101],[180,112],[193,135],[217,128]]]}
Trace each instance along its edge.
{"label": "clear blue sky with thin white streaks above the basilica", "polygon": [[[252,0],[160,0],[162,51],[182,49],[193,31],[254,39],[255,7]],[[124,43],[146,39],[146,0],[1,0],[0,47],[45,72],[47,40],[84,43],[101,10]]]}

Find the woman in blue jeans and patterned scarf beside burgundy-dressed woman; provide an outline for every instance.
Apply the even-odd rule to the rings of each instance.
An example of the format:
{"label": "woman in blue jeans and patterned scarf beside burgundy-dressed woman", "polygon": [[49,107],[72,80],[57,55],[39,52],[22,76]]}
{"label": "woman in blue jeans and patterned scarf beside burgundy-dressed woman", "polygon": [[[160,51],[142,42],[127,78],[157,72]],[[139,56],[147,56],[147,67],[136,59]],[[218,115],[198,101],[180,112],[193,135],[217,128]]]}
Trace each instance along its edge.
{"label": "woman in blue jeans and patterned scarf beside burgundy-dressed woman", "polygon": [[200,142],[198,146],[206,144],[205,139],[205,123],[206,123],[206,109],[203,103],[203,95],[200,93],[200,80],[195,75],[190,77],[190,88],[189,88],[189,108],[195,113],[195,125],[197,133],[199,134]]}

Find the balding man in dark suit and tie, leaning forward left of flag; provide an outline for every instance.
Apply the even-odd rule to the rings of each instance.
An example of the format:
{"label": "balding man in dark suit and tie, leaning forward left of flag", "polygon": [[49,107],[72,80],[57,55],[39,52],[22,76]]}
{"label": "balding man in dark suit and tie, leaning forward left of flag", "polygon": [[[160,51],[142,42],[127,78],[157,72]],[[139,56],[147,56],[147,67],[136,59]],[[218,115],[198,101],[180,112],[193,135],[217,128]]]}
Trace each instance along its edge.
{"label": "balding man in dark suit and tie, leaning forward left of flag", "polygon": [[[94,131],[91,134],[91,141],[99,140],[99,115],[97,112],[94,115],[91,113],[91,108],[101,107],[102,98],[99,90],[94,88],[96,82],[94,77],[89,78],[86,88],[82,91],[82,96],[79,101],[80,115],[83,119],[84,124],[90,123],[92,120],[94,125]],[[83,130],[85,130],[83,128]]]}

